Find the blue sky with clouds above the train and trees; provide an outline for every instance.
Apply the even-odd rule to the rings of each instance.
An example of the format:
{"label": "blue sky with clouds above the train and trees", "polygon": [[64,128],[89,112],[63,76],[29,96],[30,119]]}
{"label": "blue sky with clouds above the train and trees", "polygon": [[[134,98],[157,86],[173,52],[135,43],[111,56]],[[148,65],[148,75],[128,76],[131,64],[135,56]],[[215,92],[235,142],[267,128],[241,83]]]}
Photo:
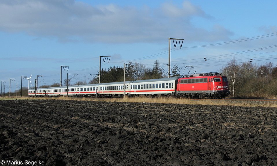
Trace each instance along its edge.
{"label": "blue sky with clouds above the train and trees", "polygon": [[[71,83],[88,82],[100,56],[110,56],[101,59],[104,69],[129,62],[153,67],[158,60],[166,73],[169,41],[171,69],[178,65],[182,75],[187,66],[218,72],[232,59],[275,66],[276,6],[274,0],[1,0],[0,81],[5,92],[20,89],[21,76],[32,75],[32,85],[43,76],[38,86],[51,85],[69,66],[62,81],[69,73]],[[169,38],[183,39],[182,47]]]}

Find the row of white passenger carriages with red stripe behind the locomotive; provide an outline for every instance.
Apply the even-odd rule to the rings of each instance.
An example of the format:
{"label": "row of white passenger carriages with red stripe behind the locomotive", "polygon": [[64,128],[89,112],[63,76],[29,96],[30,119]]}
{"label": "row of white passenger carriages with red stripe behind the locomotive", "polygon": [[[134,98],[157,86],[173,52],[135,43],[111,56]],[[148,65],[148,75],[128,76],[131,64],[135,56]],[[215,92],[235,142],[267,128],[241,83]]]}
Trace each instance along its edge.
{"label": "row of white passenger carriages with red stripe behind the locomotive", "polygon": [[73,85],[50,88],[29,89],[29,96],[73,96],[73,97],[112,97],[123,96],[124,89],[128,96],[162,96],[176,94],[178,78],[138,80],[101,84]]}

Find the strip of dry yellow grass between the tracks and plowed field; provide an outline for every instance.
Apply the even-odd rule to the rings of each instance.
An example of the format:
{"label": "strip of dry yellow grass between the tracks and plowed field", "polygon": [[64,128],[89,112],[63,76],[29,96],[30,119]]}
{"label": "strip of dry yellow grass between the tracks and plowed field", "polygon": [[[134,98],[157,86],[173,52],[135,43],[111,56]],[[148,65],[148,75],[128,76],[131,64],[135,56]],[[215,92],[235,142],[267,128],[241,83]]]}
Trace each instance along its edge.
{"label": "strip of dry yellow grass between the tracks and plowed field", "polygon": [[80,100],[102,102],[136,102],[136,103],[176,103],[176,104],[200,104],[200,105],[234,105],[250,107],[277,107],[276,101],[245,101],[245,100],[211,100],[211,99],[175,99],[169,97],[125,97],[125,98],[76,98],[76,97],[5,97],[0,100],[12,99],[56,99],[56,100]]}

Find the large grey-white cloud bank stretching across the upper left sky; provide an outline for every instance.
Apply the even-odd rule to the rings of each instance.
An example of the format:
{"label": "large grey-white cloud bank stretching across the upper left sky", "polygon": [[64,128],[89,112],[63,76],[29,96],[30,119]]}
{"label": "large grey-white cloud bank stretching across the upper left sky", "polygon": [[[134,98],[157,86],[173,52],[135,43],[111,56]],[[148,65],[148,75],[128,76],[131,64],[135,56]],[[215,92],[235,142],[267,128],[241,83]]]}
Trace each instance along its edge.
{"label": "large grey-white cloud bank stretching across the upper left sky", "polygon": [[154,10],[115,4],[94,7],[74,0],[0,1],[1,31],[57,37],[61,42],[160,42],[193,34],[185,38],[191,42],[225,40],[232,35],[224,27],[194,27],[190,22],[193,17],[211,18],[189,1],[180,6],[164,3]]}

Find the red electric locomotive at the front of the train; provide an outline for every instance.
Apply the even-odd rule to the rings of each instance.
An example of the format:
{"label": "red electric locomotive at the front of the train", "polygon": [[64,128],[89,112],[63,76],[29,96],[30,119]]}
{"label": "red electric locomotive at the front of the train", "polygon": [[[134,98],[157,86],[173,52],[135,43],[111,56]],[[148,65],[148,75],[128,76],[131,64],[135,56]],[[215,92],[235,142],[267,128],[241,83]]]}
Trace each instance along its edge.
{"label": "red electric locomotive at the front of the train", "polygon": [[202,73],[179,78],[176,94],[188,98],[222,99],[230,95],[230,91],[226,76]]}

